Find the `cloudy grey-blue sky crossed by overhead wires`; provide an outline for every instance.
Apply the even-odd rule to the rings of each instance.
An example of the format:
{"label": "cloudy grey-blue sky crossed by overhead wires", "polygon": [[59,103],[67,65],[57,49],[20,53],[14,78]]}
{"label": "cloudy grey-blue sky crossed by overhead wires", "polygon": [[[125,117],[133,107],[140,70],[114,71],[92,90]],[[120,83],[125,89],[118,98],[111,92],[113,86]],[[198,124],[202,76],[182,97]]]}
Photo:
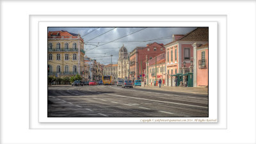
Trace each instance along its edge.
{"label": "cloudy grey-blue sky crossed by overhead wires", "polygon": [[186,34],[195,28],[48,28],[48,31],[68,31],[83,36],[86,56],[107,65],[118,60],[124,44],[128,52],[148,43],[168,44],[173,34]]}

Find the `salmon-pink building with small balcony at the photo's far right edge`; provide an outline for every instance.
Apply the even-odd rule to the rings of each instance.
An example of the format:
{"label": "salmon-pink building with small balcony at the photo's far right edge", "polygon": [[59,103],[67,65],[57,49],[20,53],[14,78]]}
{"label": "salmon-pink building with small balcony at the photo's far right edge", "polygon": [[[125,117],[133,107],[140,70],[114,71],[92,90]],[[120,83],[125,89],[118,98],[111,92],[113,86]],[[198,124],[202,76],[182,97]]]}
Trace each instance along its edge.
{"label": "salmon-pink building with small balcony at the photo's far right edge", "polygon": [[193,44],[194,51],[194,79],[193,79],[193,86],[199,87],[199,86],[208,86],[208,72],[209,72],[209,66],[208,66],[208,50],[209,46],[208,44]]}

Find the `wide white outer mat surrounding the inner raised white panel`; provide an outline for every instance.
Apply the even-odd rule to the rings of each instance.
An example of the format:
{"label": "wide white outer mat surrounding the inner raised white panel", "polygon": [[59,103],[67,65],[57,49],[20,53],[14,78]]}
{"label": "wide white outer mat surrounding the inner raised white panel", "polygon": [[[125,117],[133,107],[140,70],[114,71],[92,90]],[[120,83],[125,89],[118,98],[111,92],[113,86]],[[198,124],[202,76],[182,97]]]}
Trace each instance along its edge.
{"label": "wide white outer mat surrounding the inner raised white panel", "polygon": [[[4,0],[0,1],[0,6],[2,82],[0,143],[256,142],[255,75],[250,76],[247,84],[241,84],[242,80],[236,79],[237,74],[247,72],[248,69],[244,68],[250,68],[250,73],[255,74],[255,1],[147,1],[147,3],[132,1],[129,3],[128,1]],[[114,15],[117,17],[127,15],[127,17],[120,16],[114,19]],[[100,21],[116,19],[116,21],[217,21],[218,123],[192,125],[188,123],[40,123],[38,22],[99,19]],[[19,38],[13,37],[17,35]],[[30,39],[31,35],[36,37]],[[237,68],[240,66],[243,68]],[[15,89],[12,86],[13,81],[20,83]]]}

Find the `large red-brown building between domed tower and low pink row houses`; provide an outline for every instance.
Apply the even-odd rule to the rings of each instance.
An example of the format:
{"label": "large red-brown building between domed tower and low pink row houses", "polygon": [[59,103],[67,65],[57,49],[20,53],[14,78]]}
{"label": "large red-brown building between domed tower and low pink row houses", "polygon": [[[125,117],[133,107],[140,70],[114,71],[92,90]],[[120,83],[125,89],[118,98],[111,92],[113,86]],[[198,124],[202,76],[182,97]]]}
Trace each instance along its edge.
{"label": "large red-brown building between domed tower and low pink row houses", "polygon": [[[140,76],[143,75],[143,70],[146,68],[145,60],[151,60],[159,54],[165,53],[165,47],[163,44],[158,44],[154,42],[152,44],[147,44],[146,47],[136,47],[132,52],[130,52],[130,74],[129,79],[141,79]],[[139,77],[138,77],[139,76]]]}

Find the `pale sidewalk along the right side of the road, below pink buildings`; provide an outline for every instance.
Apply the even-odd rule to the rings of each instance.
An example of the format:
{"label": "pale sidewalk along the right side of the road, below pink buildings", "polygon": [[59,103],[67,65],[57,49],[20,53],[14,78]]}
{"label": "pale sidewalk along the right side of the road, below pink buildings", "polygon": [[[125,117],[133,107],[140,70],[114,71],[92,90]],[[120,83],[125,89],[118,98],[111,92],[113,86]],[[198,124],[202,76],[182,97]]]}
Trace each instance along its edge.
{"label": "pale sidewalk along the right side of the road, below pink buildings", "polygon": [[164,90],[172,92],[183,92],[183,93],[198,93],[198,94],[208,94],[208,88],[203,87],[183,87],[183,86],[134,86],[133,88],[142,88],[148,90]]}

